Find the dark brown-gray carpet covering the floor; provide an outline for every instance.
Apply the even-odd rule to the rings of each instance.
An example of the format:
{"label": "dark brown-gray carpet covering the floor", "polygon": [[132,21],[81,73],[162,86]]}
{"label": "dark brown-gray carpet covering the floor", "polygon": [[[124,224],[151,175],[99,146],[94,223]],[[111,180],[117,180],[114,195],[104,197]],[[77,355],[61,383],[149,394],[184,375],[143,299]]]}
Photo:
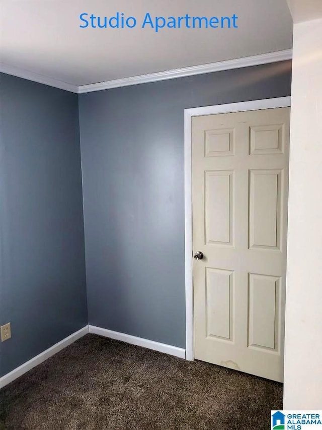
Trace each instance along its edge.
{"label": "dark brown-gray carpet covering the floor", "polygon": [[0,428],[270,428],[282,384],[87,335],[0,391]]}

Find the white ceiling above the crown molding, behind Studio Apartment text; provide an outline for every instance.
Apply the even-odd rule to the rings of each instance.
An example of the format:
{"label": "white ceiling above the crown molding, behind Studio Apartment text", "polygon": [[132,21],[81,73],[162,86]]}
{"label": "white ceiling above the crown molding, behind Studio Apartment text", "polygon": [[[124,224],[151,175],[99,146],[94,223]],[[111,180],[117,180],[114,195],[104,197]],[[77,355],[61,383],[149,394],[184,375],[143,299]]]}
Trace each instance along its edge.
{"label": "white ceiling above the crown molding, behind Studio Apartment text", "polygon": [[[320,0],[318,0],[320,1]],[[1,62],[76,86],[292,47],[286,0],[0,0]],[[134,16],[133,29],[81,29],[81,13]],[[152,16],[232,16],[237,29],[140,28]]]}

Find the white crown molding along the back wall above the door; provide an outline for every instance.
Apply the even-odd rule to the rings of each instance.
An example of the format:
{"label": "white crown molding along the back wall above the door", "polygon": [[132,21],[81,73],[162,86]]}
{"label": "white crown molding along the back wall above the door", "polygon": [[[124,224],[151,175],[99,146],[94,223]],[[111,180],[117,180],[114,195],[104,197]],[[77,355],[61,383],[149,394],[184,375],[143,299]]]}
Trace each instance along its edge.
{"label": "white crown molding along the back wall above the door", "polygon": [[242,67],[259,66],[261,64],[276,63],[292,59],[292,49],[253,55],[250,57],[230,59],[201,66],[185,67],[183,69],[168,70],[165,72],[150,73],[148,75],[133,76],[131,78],[115,79],[113,81],[98,82],[96,84],[81,85],[78,94],[92,91],[108,90],[111,88],[126,87],[128,85],[145,84],[148,82],[165,81],[167,79],[183,78],[185,76],[202,75],[204,73],[219,72],[222,70],[239,69]]}

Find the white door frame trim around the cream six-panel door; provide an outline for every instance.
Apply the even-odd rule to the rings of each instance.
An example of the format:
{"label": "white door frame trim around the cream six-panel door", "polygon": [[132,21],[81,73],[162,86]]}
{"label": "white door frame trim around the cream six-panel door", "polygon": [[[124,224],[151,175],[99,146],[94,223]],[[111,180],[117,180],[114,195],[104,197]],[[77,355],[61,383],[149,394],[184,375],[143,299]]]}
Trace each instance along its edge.
{"label": "white door frame trim around the cream six-panel door", "polygon": [[192,265],[192,183],[191,183],[191,118],[214,113],[289,107],[291,97],[279,97],[241,103],[185,109],[185,285],[186,285],[186,359],[194,359],[193,265]]}

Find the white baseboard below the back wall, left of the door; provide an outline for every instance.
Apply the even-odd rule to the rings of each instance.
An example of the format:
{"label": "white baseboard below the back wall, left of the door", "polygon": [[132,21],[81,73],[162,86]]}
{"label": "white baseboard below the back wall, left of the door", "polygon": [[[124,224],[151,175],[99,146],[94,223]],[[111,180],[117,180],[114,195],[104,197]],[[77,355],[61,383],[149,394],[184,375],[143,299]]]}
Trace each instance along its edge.
{"label": "white baseboard below the back wall, left of the door", "polygon": [[113,330],[102,329],[101,327],[89,325],[90,333],[111,339],[121,340],[132,345],[143,346],[143,348],[153,349],[154,351],[165,352],[176,357],[186,358],[186,350],[178,346],[167,345],[166,343],[155,342],[141,337],[131,336],[125,333],[114,332]]}

